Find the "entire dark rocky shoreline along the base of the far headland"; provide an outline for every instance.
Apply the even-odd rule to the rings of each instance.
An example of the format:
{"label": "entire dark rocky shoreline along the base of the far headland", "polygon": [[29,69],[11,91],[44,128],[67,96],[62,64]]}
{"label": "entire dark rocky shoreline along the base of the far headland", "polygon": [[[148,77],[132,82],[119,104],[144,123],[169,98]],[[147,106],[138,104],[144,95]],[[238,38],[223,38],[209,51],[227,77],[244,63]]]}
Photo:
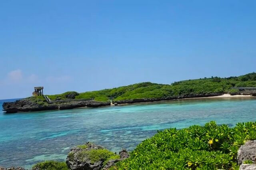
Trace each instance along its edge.
{"label": "entire dark rocky shoreline along the base of the far headland", "polygon": [[[256,96],[255,92],[237,92],[231,93],[230,95],[252,95]],[[209,93],[209,94],[199,94],[199,95],[180,95],[172,97],[162,97],[162,98],[150,98],[150,99],[130,99],[130,100],[120,100],[114,101],[115,105],[118,104],[132,104],[132,103],[144,103],[144,102],[154,102],[154,101],[168,101],[174,99],[190,99],[190,98],[199,98],[199,97],[214,97],[224,95],[224,93]],[[47,110],[56,110],[56,109],[75,109],[80,107],[102,107],[110,106],[110,101],[101,102],[101,101],[68,101],[68,102],[57,102],[57,103],[38,103],[32,101],[30,98],[21,99],[15,102],[5,102],[3,103],[3,111],[6,113],[17,113],[17,112],[31,112],[31,111],[47,111]]]}

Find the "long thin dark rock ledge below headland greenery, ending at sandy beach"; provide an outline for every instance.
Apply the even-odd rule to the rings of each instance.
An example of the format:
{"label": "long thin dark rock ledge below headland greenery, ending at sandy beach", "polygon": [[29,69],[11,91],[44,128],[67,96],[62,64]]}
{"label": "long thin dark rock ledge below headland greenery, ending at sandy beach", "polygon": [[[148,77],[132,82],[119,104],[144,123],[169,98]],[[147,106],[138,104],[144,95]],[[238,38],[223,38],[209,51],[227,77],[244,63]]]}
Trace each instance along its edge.
{"label": "long thin dark rock ledge below headland greenery, ending at sandy beach", "polygon": [[210,94],[200,94],[200,95],[180,95],[180,96],[172,96],[172,97],[162,97],[162,98],[150,98],[150,99],[130,99],[130,100],[121,100],[114,101],[117,104],[126,104],[126,103],[141,103],[141,102],[153,102],[153,101],[165,101],[165,100],[174,100],[174,99],[186,99],[186,98],[197,98],[197,97],[212,97],[212,96],[220,96],[224,93],[210,93]]}

